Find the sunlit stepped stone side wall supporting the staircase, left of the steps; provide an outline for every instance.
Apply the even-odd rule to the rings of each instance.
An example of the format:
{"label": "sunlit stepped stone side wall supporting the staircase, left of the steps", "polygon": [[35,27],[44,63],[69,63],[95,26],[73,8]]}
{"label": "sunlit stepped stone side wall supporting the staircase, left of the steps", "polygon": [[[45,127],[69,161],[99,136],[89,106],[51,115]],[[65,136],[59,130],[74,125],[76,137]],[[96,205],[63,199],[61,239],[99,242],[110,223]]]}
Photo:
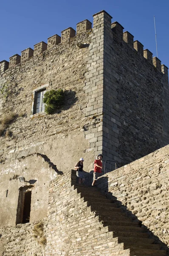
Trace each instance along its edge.
{"label": "sunlit stepped stone side wall supporting the staircase, left of the steps", "polygon": [[51,181],[46,223],[45,256],[130,255],[71,186],[70,173]]}

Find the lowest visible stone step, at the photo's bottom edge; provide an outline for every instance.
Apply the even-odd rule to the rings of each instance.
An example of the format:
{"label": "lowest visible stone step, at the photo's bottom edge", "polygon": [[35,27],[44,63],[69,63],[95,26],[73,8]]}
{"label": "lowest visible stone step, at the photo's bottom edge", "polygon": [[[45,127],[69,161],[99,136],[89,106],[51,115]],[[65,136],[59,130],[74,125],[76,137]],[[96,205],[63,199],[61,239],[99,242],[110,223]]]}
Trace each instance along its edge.
{"label": "lowest visible stone step, at the photo's bottom edge", "polygon": [[166,250],[153,250],[153,249],[140,249],[140,248],[131,248],[131,256],[166,256]]}

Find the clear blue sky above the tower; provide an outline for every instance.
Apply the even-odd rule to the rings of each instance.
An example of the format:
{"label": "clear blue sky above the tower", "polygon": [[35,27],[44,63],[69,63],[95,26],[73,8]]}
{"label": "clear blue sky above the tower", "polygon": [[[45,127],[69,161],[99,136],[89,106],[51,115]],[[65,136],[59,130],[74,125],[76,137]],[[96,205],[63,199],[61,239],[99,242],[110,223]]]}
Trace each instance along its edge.
{"label": "clear blue sky above the tower", "polygon": [[1,1],[0,61],[31,47],[50,36],[73,27],[93,14],[107,11],[112,22],[118,21],[144,49],[156,54],[154,15],[158,58],[169,67],[169,0],[8,0]]}

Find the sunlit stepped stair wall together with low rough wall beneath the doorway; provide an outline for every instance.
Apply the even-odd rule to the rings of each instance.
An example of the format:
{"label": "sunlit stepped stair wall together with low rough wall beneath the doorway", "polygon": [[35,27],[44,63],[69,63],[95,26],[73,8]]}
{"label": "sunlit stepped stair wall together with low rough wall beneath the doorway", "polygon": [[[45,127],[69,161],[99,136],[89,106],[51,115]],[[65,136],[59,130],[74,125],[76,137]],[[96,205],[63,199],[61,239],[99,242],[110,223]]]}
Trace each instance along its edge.
{"label": "sunlit stepped stair wall together with low rough wall beneath the doorway", "polygon": [[74,171],[72,177],[70,172],[58,175],[50,183],[48,216],[43,220],[46,246],[39,245],[34,237],[36,223],[4,227],[0,228],[3,256],[130,255],[130,250],[124,250],[123,243],[118,244],[113,232],[103,227],[99,217],[87,207],[71,186],[72,180],[76,180]]}

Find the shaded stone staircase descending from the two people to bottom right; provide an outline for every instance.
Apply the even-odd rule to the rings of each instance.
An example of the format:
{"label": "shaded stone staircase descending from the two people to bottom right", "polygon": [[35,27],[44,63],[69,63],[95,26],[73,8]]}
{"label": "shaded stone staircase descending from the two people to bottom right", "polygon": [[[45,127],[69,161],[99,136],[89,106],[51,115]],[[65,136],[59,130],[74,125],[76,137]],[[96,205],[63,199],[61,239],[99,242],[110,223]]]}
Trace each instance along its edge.
{"label": "shaded stone staircase descending from the two people to bottom right", "polygon": [[77,189],[87,206],[99,217],[103,226],[113,231],[113,237],[118,238],[118,243],[124,244],[124,250],[130,249],[131,256],[167,255],[166,250],[161,250],[159,244],[154,244],[155,239],[149,238],[140,221],[127,217],[117,203],[107,199],[98,188],[75,184],[74,189]]}

